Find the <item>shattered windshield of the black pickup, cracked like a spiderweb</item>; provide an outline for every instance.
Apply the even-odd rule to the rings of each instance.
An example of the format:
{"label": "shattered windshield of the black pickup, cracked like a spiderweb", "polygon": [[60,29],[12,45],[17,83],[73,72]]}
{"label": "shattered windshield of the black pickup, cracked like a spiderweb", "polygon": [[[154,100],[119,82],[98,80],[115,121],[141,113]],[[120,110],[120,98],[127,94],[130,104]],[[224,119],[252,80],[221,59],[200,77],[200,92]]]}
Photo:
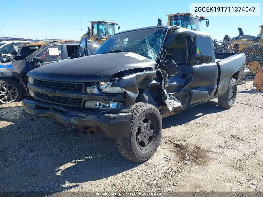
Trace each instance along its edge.
{"label": "shattered windshield of the black pickup, cracked like a spiderweb", "polygon": [[156,60],[166,30],[166,28],[152,28],[115,34],[106,40],[94,55],[109,52],[133,52]]}

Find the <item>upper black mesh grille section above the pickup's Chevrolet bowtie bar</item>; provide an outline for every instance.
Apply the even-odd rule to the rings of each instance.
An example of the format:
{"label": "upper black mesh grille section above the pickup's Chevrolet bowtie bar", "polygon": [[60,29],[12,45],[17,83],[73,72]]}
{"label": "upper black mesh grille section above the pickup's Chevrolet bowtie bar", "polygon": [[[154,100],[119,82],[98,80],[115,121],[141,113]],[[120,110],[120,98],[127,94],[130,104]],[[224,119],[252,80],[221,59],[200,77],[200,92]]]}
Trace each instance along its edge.
{"label": "upper black mesh grille section above the pickup's Chevrolet bowtie bar", "polygon": [[51,82],[35,79],[34,85],[58,91],[82,92],[83,84]]}

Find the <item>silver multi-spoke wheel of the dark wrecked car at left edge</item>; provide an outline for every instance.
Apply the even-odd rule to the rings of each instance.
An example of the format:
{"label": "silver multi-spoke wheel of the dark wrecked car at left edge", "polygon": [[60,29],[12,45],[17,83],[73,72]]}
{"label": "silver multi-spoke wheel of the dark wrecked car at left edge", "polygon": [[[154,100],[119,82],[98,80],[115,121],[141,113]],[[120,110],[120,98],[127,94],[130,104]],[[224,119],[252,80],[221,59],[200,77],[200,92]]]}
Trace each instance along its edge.
{"label": "silver multi-spoke wheel of the dark wrecked car at left edge", "polygon": [[21,98],[21,86],[12,79],[0,81],[0,103],[12,103]]}

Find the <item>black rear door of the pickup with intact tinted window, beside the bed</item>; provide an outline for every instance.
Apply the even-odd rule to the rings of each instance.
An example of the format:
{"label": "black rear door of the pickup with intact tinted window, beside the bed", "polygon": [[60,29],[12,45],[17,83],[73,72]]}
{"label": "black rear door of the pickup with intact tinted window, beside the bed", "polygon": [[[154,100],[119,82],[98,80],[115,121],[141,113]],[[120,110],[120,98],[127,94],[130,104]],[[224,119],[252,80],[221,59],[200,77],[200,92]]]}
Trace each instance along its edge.
{"label": "black rear door of the pickup with intact tinted window, beside the bed", "polygon": [[210,37],[197,36],[190,104],[209,101],[217,88],[218,68]]}

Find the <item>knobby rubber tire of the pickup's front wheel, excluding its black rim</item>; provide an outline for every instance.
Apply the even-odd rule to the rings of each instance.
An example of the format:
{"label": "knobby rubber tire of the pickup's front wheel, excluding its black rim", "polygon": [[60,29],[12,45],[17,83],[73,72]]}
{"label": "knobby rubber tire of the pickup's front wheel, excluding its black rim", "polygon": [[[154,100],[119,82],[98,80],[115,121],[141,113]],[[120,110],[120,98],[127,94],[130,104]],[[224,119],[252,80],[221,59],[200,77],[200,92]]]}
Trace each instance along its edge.
{"label": "knobby rubber tire of the pickup's front wheel, excluding its black rim", "polygon": [[[153,156],[162,138],[162,118],[157,108],[148,103],[135,103],[130,107],[132,114],[129,137],[117,138],[116,144],[121,155],[134,162],[144,162]],[[142,150],[137,143],[137,129],[145,117],[154,120],[154,138],[151,145]]]}

